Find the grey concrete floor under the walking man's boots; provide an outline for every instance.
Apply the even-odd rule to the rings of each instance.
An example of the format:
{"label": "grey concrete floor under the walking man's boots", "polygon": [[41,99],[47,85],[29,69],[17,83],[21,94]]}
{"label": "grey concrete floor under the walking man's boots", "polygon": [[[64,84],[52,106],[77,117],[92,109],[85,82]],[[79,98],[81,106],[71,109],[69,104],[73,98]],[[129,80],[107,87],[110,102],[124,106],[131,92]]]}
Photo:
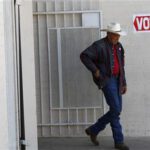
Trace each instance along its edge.
{"label": "grey concrete floor under the walking man's boots", "polygon": [[[99,137],[94,146],[88,137],[39,138],[39,150],[115,150],[111,137]],[[130,150],[150,150],[150,137],[125,138]]]}

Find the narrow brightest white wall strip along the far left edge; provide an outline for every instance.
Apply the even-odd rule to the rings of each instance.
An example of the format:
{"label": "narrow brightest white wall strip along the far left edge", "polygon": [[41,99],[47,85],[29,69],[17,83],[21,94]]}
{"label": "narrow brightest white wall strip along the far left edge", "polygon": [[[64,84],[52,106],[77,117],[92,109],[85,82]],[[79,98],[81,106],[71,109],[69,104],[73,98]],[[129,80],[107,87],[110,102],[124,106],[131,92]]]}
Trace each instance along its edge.
{"label": "narrow brightest white wall strip along the far left edge", "polygon": [[3,1],[0,2],[0,149],[8,150],[8,118],[6,97],[6,68],[5,68],[5,45],[4,45],[4,13]]}

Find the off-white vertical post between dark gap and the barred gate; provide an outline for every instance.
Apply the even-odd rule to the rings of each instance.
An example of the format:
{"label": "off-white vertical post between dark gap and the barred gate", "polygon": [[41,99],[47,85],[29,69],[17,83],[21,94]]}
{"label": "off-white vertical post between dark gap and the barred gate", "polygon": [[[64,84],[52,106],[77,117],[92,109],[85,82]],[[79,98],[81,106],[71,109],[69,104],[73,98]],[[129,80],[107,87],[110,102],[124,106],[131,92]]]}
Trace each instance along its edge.
{"label": "off-white vertical post between dark gap and the barred gate", "polygon": [[32,1],[22,0],[20,14],[26,150],[37,150]]}

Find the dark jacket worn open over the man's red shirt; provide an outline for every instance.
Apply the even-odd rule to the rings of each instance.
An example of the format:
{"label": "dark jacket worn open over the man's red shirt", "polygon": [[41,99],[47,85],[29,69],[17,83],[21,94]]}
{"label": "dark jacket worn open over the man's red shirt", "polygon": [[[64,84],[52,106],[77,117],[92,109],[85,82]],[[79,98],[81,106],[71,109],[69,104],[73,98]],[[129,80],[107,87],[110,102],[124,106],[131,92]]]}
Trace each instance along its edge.
{"label": "dark jacket worn open over the man's red shirt", "polygon": [[[93,80],[99,89],[103,88],[112,76],[112,68],[114,65],[112,48],[113,44],[105,37],[94,42],[80,54],[81,61],[91,71]],[[120,42],[116,44],[116,49],[119,61],[119,85],[121,89],[122,86],[126,85],[126,79],[124,71],[124,49]],[[101,75],[99,79],[94,76],[97,69],[99,69]]]}

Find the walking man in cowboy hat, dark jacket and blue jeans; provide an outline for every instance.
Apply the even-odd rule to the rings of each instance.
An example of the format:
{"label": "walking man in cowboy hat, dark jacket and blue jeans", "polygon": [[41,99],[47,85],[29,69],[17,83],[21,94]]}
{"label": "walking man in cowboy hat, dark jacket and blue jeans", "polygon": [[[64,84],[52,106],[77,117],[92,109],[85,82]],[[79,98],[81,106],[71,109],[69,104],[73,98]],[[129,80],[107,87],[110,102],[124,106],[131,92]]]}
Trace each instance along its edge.
{"label": "walking man in cowboy hat, dark jacket and blue jeans", "polygon": [[94,145],[99,145],[97,135],[110,123],[114,146],[119,150],[129,150],[124,144],[120,113],[122,110],[122,94],[127,91],[124,71],[124,49],[119,42],[120,35],[126,33],[121,30],[119,23],[110,23],[107,36],[94,42],[85,49],[81,55],[81,61],[91,71],[93,80],[104,93],[109,111],[97,122],[85,130]]}

